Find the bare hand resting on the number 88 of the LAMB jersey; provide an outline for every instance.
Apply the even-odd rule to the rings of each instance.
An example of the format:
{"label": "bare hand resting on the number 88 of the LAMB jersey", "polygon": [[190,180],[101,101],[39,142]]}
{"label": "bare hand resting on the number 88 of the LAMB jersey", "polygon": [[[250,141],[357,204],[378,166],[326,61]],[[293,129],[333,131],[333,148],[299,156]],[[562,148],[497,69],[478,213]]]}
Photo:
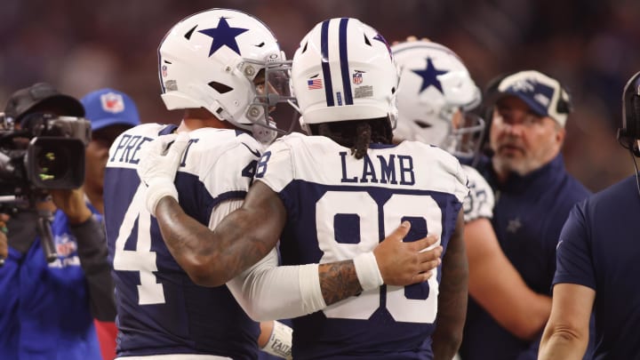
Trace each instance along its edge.
{"label": "bare hand resting on the number 88 of the LAMB jersey", "polygon": [[[427,281],[433,274],[433,268],[440,265],[443,248],[436,244],[438,238],[427,236],[411,243],[404,243],[403,238],[409,233],[410,228],[409,221],[404,221],[373,249],[385,284],[406,286]],[[427,248],[429,250],[424,251]]]}

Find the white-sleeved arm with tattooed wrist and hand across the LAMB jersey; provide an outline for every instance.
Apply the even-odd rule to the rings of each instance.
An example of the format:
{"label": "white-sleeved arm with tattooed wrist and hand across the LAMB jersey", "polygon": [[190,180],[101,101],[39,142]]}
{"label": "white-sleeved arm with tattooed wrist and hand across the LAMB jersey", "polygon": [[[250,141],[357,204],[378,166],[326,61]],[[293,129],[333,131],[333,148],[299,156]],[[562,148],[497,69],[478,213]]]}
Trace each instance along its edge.
{"label": "white-sleeved arm with tattooed wrist and hand across the LAMB jersey", "polygon": [[[249,316],[256,321],[267,321],[314,313],[364,290],[377,288],[382,282],[402,286],[425,281],[431,269],[439,264],[437,257],[442,248],[436,246],[432,251],[418,252],[418,248],[434,243],[435,237],[421,239],[416,247],[409,247],[414,243],[402,242],[409,228],[409,222],[403,223],[374,249],[371,259],[380,266],[380,283],[371,281],[377,275],[366,275],[377,272],[376,264],[368,268],[366,260],[360,257],[326,264],[277,266],[274,249],[227,286]],[[369,257],[368,254],[360,256]]]}

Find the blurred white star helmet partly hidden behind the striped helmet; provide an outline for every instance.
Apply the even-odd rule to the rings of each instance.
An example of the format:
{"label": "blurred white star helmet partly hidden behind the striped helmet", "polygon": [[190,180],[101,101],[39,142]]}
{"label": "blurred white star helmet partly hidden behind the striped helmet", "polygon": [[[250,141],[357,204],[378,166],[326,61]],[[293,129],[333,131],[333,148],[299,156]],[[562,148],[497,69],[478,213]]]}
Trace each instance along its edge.
{"label": "blurred white star helmet partly hidden behind the striped helmet", "polygon": [[[417,140],[455,156],[476,156],[484,120],[467,111],[480,104],[482,92],[458,55],[426,40],[396,44],[391,51],[400,68],[394,140]],[[462,116],[454,119],[458,110]]]}

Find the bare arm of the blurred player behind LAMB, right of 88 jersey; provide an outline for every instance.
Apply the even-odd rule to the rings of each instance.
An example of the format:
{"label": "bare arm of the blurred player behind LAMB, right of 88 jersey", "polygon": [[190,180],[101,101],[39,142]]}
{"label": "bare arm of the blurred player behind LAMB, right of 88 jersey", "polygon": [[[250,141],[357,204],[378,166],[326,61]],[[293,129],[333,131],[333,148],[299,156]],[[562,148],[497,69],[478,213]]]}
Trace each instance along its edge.
{"label": "bare arm of the blurred player behind LAMB, right of 88 jersey", "polygon": [[508,332],[523,340],[540,336],[551,298],[533,292],[504,252],[486,218],[465,224],[469,294]]}

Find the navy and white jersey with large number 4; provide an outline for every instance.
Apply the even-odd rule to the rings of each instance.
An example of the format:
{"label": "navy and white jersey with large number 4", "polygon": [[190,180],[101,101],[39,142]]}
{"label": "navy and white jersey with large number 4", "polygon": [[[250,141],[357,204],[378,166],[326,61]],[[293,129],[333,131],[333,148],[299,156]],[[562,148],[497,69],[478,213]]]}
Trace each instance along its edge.
{"label": "navy and white jersey with large number 4", "polygon": [[[118,356],[256,358],[259,325],[246,316],[227,286],[191,282],[146,209],[146,187],[136,173],[140,147],[172,129],[142,124],[122,133],[109,150],[105,219],[116,282]],[[204,128],[189,132],[189,137],[176,188],[185,212],[208,226],[217,204],[244,198],[260,145],[232,130]]]}

